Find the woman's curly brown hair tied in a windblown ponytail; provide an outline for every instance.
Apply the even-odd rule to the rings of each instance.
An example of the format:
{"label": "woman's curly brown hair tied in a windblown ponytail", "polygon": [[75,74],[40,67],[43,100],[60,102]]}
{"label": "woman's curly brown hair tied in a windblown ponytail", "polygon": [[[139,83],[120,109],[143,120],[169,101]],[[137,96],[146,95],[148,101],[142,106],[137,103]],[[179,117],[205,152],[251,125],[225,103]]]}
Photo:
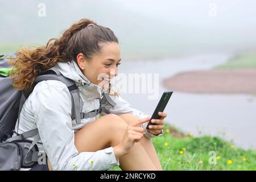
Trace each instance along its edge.
{"label": "woman's curly brown hair tied in a windblown ponytail", "polygon": [[[88,26],[89,24],[95,26]],[[118,43],[112,30],[92,20],[81,19],[65,30],[60,38],[48,40],[46,46],[19,49],[16,52],[16,59],[10,60],[10,64],[14,67],[11,72],[13,86],[18,90],[31,91],[34,89],[36,76],[43,71],[58,62],[77,61],[76,57],[79,53],[90,60],[93,55],[101,52],[100,43],[106,42]],[[111,88],[109,88],[110,92]]]}

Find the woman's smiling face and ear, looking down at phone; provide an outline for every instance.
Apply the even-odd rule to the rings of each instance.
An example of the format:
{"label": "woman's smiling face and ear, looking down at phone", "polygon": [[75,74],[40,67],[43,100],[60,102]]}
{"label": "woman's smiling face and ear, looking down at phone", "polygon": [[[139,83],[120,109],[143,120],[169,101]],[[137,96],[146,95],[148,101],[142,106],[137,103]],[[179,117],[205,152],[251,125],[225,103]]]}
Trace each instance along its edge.
{"label": "woman's smiling face and ear, looking down at phone", "polygon": [[[101,52],[87,59],[82,53],[77,55],[77,64],[82,73],[90,82],[100,85],[108,85],[111,78],[118,75],[118,65],[120,64],[120,49],[118,43],[101,43]],[[104,81],[102,81],[104,79]]]}

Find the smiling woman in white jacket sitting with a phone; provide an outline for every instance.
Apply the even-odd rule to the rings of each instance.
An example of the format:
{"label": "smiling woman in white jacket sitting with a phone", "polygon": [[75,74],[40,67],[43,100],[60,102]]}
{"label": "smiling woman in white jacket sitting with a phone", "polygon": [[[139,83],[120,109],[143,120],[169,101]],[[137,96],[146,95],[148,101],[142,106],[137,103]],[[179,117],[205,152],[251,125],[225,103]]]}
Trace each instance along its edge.
{"label": "smiling woman in white jacket sitting with a phone", "polygon": [[[110,114],[81,119],[76,124],[71,119],[69,90],[63,82],[47,80],[34,86],[36,75],[55,67],[76,82],[82,112],[98,109],[98,98],[106,91],[106,82],[118,75],[121,61],[118,39],[112,30],[81,19],[59,39],[49,40],[46,47],[21,49],[17,55],[13,86],[33,89],[20,113],[19,133],[38,128],[48,158],[46,165],[38,164],[32,170],[72,170],[74,166],[77,170],[115,166],[122,170],[162,170],[150,138],[163,134],[167,114],[160,113],[156,125],[146,130],[148,115],[131,108],[109,88],[116,103]],[[98,78],[102,74],[103,85]]]}

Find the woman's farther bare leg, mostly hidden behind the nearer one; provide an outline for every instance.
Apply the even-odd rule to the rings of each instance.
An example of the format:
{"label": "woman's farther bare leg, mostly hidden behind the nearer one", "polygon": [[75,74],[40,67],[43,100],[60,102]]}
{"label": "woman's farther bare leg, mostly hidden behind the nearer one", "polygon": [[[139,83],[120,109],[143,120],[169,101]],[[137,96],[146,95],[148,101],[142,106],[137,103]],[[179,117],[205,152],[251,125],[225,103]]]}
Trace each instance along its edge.
{"label": "woman's farther bare leg, mostly hidden behind the nearer one", "polygon": [[[125,120],[128,125],[130,123],[139,121],[139,119],[137,117],[135,117],[135,115],[133,115],[133,114],[122,114],[122,115],[119,115],[119,117],[121,117],[123,120]],[[146,137],[143,137],[141,139],[141,141],[139,141],[139,143],[142,144],[142,146],[144,147],[144,150],[147,152],[148,156],[150,157],[152,162],[155,164],[155,167],[158,170],[162,171],[163,168],[159,162],[158,155],[156,154],[154,144],[151,142],[151,140]]]}

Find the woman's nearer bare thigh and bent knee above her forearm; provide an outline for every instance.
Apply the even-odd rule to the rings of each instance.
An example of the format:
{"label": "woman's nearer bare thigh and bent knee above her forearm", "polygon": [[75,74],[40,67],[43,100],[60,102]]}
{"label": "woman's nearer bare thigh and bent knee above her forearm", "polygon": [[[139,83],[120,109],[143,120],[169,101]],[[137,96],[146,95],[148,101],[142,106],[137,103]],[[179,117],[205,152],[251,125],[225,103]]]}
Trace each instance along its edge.
{"label": "woman's nearer bare thigh and bent knee above her forearm", "polygon": [[121,142],[127,123],[115,114],[108,114],[86,125],[75,133],[79,152],[95,152]]}

